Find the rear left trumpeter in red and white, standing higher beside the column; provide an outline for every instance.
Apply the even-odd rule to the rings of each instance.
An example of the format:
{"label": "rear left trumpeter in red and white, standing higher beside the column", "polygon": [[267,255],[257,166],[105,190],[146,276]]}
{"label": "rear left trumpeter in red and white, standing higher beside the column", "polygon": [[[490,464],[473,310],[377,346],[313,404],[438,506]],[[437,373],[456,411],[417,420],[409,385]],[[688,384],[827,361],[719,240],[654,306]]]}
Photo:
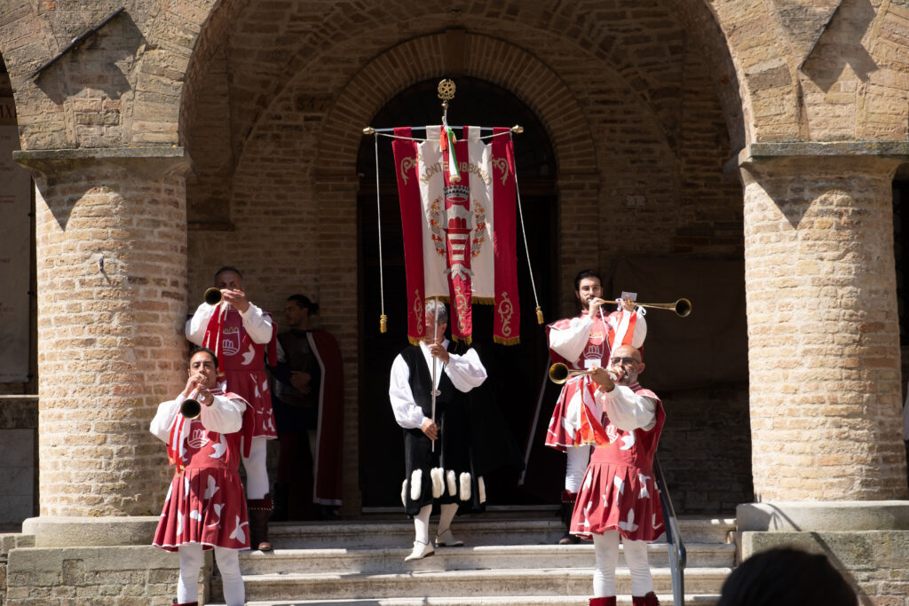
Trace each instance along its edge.
{"label": "rear left trumpeter in red and white, standing higher beside the column", "polygon": [[215,288],[224,300],[200,304],[186,322],[186,338],[215,352],[221,360],[227,388],[249,402],[243,419],[243,466],[250,533],[254,549],[271,551],[268,514],[273,503],[268,492],[265,442],[274,440],[277,431],[265,374],[265,349],[269,361],[277,363],[277,330],[272,316],[246,297],[243,275],[238,269],[219,269]]}

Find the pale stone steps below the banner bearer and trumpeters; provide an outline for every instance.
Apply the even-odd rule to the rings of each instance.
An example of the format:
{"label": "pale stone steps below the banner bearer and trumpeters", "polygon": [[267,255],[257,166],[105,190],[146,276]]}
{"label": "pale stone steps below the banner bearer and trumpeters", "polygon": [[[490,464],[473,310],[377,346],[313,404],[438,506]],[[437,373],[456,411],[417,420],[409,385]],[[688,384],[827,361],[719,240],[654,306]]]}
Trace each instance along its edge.
{"label": "pale stone steps below the banner bearer and trumpeters", "polygon": [[[435,518],[433,520],[435,524]],[[680,520],[688,554],[685,604],[711,605],[734,566],[735,522]],[[250,606],[291,604],[546,604],[580,606],[590,596],[594,549],[590,542],[556,545],[562,526],[554,518],[487,512],[460,516],[453,530],[464,547],[443,547],[407,562],[413,523],[403,519],[273,524],[275,551],[240,556]],[[431,526],[435,532],[435,525]],[[655,591],[672,604],[664,542],[649,547]],[[618,592],[628,596],[630,577],[620,559]],[[211,603],[224,603],[220,579]],[[630,604],[630,598],[619,598]]]}

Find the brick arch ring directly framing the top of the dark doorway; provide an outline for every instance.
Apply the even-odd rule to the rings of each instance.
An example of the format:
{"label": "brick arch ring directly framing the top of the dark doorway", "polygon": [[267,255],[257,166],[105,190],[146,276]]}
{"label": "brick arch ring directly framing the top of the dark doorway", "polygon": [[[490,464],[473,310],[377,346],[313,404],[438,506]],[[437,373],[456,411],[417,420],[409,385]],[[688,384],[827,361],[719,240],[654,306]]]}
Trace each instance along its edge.
{"label": "brick arch ring directly framing the top of the dark doorway", "polygon": [[[549,131],[560,170],[595,173],[593,136],[574,94],[542,61],[524,50],[482,35],[468,35],[472,52],[464,75],[498,84],[520,98]],[[368,124],[375,108],[407,86],[445,74],[445,35],[427,35],[389,49],[371,61],[345,86],[325,120],[318,152],[319,173],[354,173],[362,134],[351,124]],[[489,57],[495,57],[494,62]],[[397,66],[390,69],[390,66]],[[397,79],[388,74],[399,74]]]}

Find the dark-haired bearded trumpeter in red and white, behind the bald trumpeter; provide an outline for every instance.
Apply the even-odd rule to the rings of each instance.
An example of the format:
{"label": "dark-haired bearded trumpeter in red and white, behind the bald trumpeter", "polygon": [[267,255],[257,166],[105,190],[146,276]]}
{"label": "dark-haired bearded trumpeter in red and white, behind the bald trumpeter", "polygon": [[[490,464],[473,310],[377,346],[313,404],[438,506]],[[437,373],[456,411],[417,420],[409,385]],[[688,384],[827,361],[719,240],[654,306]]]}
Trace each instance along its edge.
{"label": "dark-haired bearded trumpeter in red and white, behind the bald trumpeter", "polygon": [[[644,313],[634,311],[634,303],[624,300],[620,309],[604,315],[603,280],[594,270],[574,277],[574,296],[581,308],[574,318],[564,318],[546,326],[549,355],[553,363],[564,363],[569,371],[604,367],[610,350],[628,344],[644,345],[647,323]],[[565,534],[560,544],[576,543],[569,522],[590,459],[590,443],[582,435],[582,407],[593,407],[594,383],[587,374],[575,376],[562,386],[546,432],[546,446],[565,452],[565,482],[562,492],[562,522]]]}

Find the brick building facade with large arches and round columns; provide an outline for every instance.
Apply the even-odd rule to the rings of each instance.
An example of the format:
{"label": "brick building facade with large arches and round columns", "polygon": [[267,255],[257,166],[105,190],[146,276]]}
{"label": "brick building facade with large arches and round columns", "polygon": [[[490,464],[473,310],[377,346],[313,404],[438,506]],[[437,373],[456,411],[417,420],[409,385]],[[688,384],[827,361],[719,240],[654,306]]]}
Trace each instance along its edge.
{"label": "brick building facade with large arches and round columns", "polygon": [[35,378],[2,392],[39,401],[36,420],[20,401],[0,419],[36,427],[36,541],[159,511],[168,472],[147,423],[182,382],[185,314],[223,264],[266,310],[295,292],[321,304],[345,357],[343,513],[381,504],[362,490],[363,410],[383,389],[367,371],[390,363],[365,346],[362,128],[442,77],[495,87],[542,127],[549,319],[572,313],[588,266],[615,294],[622,268],[653,270],[642,299],[665,279],[709,310],[691,349],[672,338],[684,321],[649,316],[654,353],[675,348],[655,359],[684,370],[648,369],[682,511],[905,500],[906,31],[899,0],[2,0],[37,294]]}

